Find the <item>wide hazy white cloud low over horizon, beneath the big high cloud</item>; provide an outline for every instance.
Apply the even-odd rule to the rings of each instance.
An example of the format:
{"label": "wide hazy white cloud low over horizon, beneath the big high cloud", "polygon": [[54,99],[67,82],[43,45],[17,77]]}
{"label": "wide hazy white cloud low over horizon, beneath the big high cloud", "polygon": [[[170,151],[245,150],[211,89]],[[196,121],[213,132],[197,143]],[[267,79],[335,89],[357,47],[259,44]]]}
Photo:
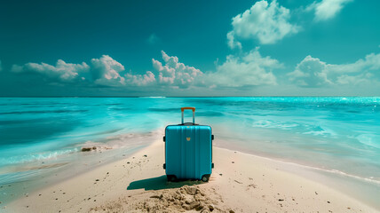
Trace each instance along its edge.
{"label": "wide hazy white cloud low over horizon, beneath the big high cloud", "polygon": [[276,59],[262,57],[258,48],[242,57],[228,55],[226,62],[217,66],[216,72],[206,73],[202,83],[211,87],[243,87],[257,85],[275,85],[273,69],[283,65]]}

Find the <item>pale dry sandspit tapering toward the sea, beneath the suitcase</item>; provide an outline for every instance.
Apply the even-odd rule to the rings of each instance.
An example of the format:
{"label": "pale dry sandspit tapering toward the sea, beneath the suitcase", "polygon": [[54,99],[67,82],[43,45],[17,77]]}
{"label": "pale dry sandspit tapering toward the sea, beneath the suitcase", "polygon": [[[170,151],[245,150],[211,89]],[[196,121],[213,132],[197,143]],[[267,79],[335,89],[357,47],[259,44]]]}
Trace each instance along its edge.
{"label": "pale dry sandspit tapering toward the sea, beneath the suitcase", "polygon": [[[282,164],[214,147],[209,183],[166,182],[164,144],[10,203],[9,212],[377,212]],[[144,156],[146,155],[146,157]],[[187,186],[189,185],[189,186]]]}

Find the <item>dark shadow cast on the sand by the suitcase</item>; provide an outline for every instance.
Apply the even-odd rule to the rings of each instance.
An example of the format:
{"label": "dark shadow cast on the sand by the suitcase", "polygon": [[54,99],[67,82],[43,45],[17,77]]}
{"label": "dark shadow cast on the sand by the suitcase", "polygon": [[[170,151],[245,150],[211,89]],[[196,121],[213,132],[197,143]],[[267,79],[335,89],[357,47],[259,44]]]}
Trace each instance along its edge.
{"label": "dark shadow cast on the sand by the suitcase", "polygon": [[168,182],[165,175],[160,177],[152,177],[152,178],[146,178],[141,180],[136,180],[131,182],[130,185],[128,185],[127,190],[133,190],[133,189],[145,189],[146,191],[149,190],[160,190],[160,189],[169,189],[169,188],[180,188],[184,185],[202,185],[204,184],[202,181],[199,180],[184,180],[184,181],[178,181],[178,182]]}

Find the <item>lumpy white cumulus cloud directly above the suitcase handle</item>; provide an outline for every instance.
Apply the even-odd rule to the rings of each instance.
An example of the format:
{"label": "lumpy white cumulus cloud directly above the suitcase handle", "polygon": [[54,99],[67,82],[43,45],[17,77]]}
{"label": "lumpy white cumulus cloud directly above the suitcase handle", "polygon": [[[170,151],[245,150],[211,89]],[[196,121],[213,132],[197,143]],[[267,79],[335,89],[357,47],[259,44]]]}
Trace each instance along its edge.
{"label": "lumpy white cumulus cloud directly above the suitcase handle", "polygon": [[201,70],[180,63],[178,57],[169,56],[164,51],[161,53],[164,65],[159,60],[152,59],[153,67],[159,73],[158,83],[187,88],[194,83],[195,78],[203,75]]}

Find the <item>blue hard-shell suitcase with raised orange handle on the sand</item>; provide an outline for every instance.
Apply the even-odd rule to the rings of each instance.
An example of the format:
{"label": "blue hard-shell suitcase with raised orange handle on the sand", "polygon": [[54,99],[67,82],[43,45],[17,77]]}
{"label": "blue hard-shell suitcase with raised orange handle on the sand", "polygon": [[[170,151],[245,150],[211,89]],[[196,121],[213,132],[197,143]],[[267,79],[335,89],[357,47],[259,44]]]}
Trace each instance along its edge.
{"label": "blue hard-shell suitcase with raised orange handle on the sand", "polygon": [[[184,123],[184,110],[193,110],[193,122]],[[202,179],[208,182],[212,163],[211,127],[195,123],[195,107],[182,107],[182,123],[165,129],[165,163],[168,181]]]}

